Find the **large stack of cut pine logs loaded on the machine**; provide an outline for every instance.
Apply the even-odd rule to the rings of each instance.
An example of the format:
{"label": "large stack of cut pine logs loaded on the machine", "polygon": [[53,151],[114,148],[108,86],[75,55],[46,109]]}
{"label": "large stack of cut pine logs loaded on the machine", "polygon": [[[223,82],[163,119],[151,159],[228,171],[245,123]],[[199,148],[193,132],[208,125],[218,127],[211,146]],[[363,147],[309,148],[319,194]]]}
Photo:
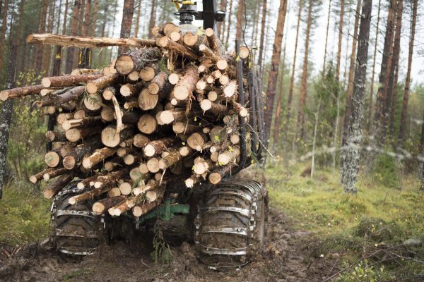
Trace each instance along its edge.
{"label": "large stack of cut pine logs loaded on the machine", "polygon": [[[33,106],[56,118],[46,133],[54,142],[48,168],[30,177],[57,178],[46,198],[77,178],[81,193],[70,204],[95,199],[95,214],[141,216],[160,204],[167,182],[216,185],[237,166],[238,123],[249,112],[237,103],[235,54],[224,53],[211,29],[183,34],[169,23],[153,31],[155,40],[102,70],[0,92],[3,101],[39,94]],[[248,56],[242,47],[240,58]]]}

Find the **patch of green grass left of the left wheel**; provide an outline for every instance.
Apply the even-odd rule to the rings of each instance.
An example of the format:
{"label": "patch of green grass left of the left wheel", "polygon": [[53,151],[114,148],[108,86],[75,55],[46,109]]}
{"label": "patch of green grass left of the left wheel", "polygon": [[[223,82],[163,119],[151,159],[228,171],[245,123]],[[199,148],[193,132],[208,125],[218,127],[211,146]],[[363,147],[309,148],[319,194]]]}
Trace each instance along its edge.
{"label": "patch of green grass left of the left wheel", "polygon": [[0,243],[22,245],[47,238],[51,204],[29,183],[6,185],[0,200]]}

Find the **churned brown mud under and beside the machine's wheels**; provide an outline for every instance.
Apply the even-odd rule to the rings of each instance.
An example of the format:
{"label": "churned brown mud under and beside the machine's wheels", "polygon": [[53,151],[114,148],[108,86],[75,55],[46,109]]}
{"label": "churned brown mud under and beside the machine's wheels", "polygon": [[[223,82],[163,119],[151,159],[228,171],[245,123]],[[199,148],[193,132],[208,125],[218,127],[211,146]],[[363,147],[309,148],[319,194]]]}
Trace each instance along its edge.
{"label": "churned brown mud under and beside the machine's wheels", "polygon": [[208,269],[196,260],[194,246],[172,243],[170,264],[155,264],[151,243],[115,242],[83,259],[61,257],[38,244],[0,245],[0,281],[324,281],[334,262],[311,258],[313,235],[295,231],[293,223],[271,209],[266,250],[240,271]]}

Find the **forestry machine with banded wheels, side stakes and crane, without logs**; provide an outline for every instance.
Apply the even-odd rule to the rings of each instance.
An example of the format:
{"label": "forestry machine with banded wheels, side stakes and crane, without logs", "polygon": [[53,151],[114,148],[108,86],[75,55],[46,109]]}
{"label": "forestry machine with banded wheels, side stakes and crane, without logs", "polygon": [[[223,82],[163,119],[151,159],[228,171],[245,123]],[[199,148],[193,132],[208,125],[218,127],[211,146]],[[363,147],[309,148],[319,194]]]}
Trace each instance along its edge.
{"label": "forestry machine with banded wheels, side stakes and crane, without logs", "polygon": [[[216,0],[204,0],[203,11],[193,1],[172,0],[177,6],[181,30],[194,30],[194,19],[204,21],[204,29],[217,30],[216,23],[222,22],[225,12],[216,11]],[[236,49],[241,41],[236,40]],[[231,175],[261,159],[263,135],[263,108],[261,80],[252,71],[252,63],[237,60],[238,99],[247,104],[249,99],[249,121],[241,118],[240,161]],[[243,73],[245,69],[245,73]],[[248,71],[246,71],[248,69]],[[247,84],[246,84],[247,81]],[[243,87],[243,85],[247,85]],[[246,135],[250,144],[246,144]],[[77,181],[78,182],[78,181]],[[59,252],[66,255],[91,255],[105,240],[114,239],[122,233],[128,236],[146,230],[146,226],[158,221],[170,221],[177,216],[187,219],[187,235],[194,241],[199,260],[211,269],[238,269],[249,263],[261,249],[266,236],[268,197],[266,188],[256,180],[228,177],[219,185],[204,181],[189,189],[184,180],[168,183],[162,204],[152,212],[135,217],[132,214],[114,218],[97,216],[92,212],[94,201],[69,204],[69,198],[81,193],[76,183],[69,184],[55,197],[51,209],[52,236],[50,242]],[[124,228],[124,221],[131,223],[131,232]],[[128,226],[126,226],[128,227]],[[140,232],[140,231],[139,231]]]}

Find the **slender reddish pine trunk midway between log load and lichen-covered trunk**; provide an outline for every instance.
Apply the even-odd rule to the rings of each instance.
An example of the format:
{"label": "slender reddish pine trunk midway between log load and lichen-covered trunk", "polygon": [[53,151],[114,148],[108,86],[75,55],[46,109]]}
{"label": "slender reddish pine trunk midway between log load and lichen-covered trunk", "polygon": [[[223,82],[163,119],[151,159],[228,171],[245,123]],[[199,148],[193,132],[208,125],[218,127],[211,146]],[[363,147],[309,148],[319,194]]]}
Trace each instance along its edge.
{"label": "slender reddish pine trunk midway between log load and lichen-covered trunk", "polygon": [[307,71],[308,71],[310,33],[311,33],[311,24],[312,24],[312,6],[313,6],[313,1],[309,0],[309,7],[307,10],[306,38],[305,38],[305,57],[303,59],[302,80],[300,82],[300,97],[299,97],[299,110],[298,110],[299,136],[302,138],[302,140],[306,140],[304,108],[306,105],[306,98],[307,98],[307,76],[308,76]]}

